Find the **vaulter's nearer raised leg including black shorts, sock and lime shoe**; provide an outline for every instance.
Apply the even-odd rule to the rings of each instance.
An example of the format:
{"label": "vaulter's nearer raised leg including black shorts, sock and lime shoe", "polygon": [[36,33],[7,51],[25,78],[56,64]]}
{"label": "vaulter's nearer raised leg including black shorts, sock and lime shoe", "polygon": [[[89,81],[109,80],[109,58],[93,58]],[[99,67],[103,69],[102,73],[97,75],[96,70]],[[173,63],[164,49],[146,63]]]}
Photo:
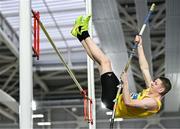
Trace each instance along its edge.
{"label": "vaulter's nearer raised leg including black shorts, sock and lime shoe", "polygon": [[[79,39],[91,59],[98,63],[102,83],[102,102],[107,108],[113,109],[113,100],[116,97],[118,78],[112,72],[111,62],[97,44],[90,38],[88,33],[88,22],[90,17],[84,18],[79,27],[75,28],[74,36]],[[80,31],[78,33],[78,31]],[[71,32],[72,33],[72,32]]]}

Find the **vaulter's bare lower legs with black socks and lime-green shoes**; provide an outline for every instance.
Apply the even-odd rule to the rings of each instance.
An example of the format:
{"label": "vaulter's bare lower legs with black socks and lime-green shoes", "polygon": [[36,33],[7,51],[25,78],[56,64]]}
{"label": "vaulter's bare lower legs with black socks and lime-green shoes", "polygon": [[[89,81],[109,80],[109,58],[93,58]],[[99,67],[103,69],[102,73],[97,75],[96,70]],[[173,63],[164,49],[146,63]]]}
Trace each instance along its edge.
{"label": "vaulter's bare lower legs with black socks and lime-green shoes", "polygon": [[85,18],[79,16],[76,19],[71,33],[79,39],[89,57],[99,64],[99,72],[101,75],[106,72],[112,72],[110,60],[89,36],[88,24],[90,18],[91,16]]}

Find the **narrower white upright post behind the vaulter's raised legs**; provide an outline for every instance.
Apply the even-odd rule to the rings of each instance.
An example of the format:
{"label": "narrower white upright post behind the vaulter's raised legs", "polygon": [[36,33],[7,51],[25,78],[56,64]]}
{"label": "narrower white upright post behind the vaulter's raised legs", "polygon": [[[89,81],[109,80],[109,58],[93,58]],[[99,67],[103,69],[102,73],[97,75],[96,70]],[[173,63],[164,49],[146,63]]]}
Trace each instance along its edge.
{"label": "narrower white upright post behind the vaulter's raised legs", "polygon": [[[86,0],[86,15],[92,14],[92,0]],[[92,37],[92,18],[89,22],[89,34]],[[93,124],[89,123],[89,129],[96,129],[96,99],[94,88],[94,62],[87,56],[87,70],[88,70],[88,96],[92,99],[92,119]],[[89,101],[90,103],[90,101]],[[90,106],[90,104],[89,104]],[[90,114],[90,109],[89,114]],[[90,115],[89,115],[90,116]]]}

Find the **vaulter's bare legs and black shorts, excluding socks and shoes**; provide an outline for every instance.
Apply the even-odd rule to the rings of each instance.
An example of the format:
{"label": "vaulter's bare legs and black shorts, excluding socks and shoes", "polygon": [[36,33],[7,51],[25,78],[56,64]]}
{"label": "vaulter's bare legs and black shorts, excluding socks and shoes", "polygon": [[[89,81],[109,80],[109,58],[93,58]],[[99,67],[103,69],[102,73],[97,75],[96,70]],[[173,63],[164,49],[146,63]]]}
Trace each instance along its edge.
{"label": "vaulter's bare legs and black shorts, excluding socks and shoes", "polygon": [[119,80],[112,72],[111,62],[90,37],[86,38],[85,42],[83,41],[82,44],[87,45],[87,47],[91,51],[90,53],[92,54],[93,58],[99,64],[99,72],[101,74],[102,84],[101,100],[108,109],[113,110],[113,100],[116,97],[117,85],[119,85]]}

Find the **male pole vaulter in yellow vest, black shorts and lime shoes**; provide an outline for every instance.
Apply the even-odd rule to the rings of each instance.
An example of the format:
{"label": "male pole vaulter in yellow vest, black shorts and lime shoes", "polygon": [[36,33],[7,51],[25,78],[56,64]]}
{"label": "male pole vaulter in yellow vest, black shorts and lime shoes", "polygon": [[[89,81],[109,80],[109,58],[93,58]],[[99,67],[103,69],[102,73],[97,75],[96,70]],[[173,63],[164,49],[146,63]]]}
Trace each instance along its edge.
{"label": "male pole vaulter in yellow vest, black shorts and lime shoes", "polygon": [[[74,24],[71,34],[78,38],[82,43],[89,57],[98,63],[102,84],[102,102],[108,109],[113,110],[119,79],[112,71],[111,62],[101,49],[94,43],[88,33],[88,23],[91,16],[79,16]],[[138,44],[138,57],[140,68],[147,86],[140,93],[130,93],[128,89],[127,73],[123,73],[122,92],[119,95],[116,117],[134,118],[147,117],[156,114],[162,105],[162,98],[171,89],[171,83],[168,78],[158,77],[152,80],[149,72],[149,66],[145,58],[141,36],[135,37],[135,43]]]}

